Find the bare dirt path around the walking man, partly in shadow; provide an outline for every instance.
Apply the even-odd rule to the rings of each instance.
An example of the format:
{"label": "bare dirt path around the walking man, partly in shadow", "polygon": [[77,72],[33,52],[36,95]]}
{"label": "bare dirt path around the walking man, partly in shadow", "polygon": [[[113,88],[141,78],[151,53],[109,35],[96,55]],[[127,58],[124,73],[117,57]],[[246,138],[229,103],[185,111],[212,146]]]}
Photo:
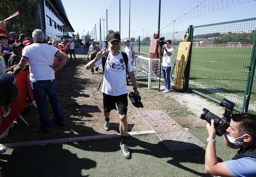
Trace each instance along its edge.
{"label": "bare dirt path around the walking man, partly in shadow", "polygon": [[[99,73],[91,75],[91,72],[84,68],[88,63],[85,58],[86,55],[77,55],[77,60],[69,60],[66,66],[55,75],[57,94],[62,112],[66,117],[66,126],[55,125],[54,116],[49,106],[51,133],[45,134],[39,130],[40,121],[37,109],[31,107],[27,114],[22,115],[29,126],[17,118],[15,127],[9,131],[9,136],[0,140],[0,143],[119,133],[119,115],[115,110],[110,114],[111,130],[109,132],[103,130],[102,92],[97,91],[102,79],[102,72],[99,71]],[[199,118],[203,108],[209,109],[218,116],[223,112],[222,107],[196,94],[181,93],[175,90],[164,94],[157,90],[148,90],[141,83],[138,83],[138,89],[142,96],[144,108],[135,108],[129,101],[129,132],[151,130],[139,116],[138,112],[141,111],[162,110],[183,127],[189,129],[206,125],[206,121]],[[128,92],[130,91],[132,91],[132,86],[128,86]],[[183,112],[179,111],[180,107],[188,112],[187,115],[182,116]]]}

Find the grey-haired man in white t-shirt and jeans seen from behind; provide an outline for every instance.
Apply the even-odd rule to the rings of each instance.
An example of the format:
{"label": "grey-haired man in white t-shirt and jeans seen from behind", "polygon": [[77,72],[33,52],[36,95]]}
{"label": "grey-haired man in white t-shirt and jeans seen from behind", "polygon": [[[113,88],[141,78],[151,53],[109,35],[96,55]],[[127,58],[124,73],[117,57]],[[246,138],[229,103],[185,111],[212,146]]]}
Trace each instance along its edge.
{"label": "grey-haired man in white t-shirt and jeans seen from behind", "polygon": [[[41,29],[35,29],[32,38],[34,43],[23,49],[22,58],[12,74],[17,75],[22,72],[29,62],[29,79],[42,124],[40,128],[49,133],[51,125],[48,117],[47,97],[54,113],[55,123],[64,126],[65,120],[56,94],[55,72],[63,68],[69,57],[56,47],[44,43],[44,32]],[[59,58],[60,62],[54,67],[55,57]]]}

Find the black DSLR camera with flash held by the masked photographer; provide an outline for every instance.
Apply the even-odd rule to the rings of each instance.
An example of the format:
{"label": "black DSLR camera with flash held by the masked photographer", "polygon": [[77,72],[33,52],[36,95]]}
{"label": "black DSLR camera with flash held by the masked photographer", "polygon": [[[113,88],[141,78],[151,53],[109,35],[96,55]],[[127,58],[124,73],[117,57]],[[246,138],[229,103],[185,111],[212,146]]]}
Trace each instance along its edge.
{"label": "black DSLR camera with flash held by the masked photographer", "polygon": [[211,120],[214,120],[214,127],[216,129],[216,135],[222,136],[226,133],[227,128],[229,127],[230,118],[233,114],[235,104],[225,98],[220,102],[220,106],[226,107],[224,116],[220,118],[216,116],[208,109],[203,108],[203,112],[201,114],[201,119],[206,120],[208,123],[211,123]]}

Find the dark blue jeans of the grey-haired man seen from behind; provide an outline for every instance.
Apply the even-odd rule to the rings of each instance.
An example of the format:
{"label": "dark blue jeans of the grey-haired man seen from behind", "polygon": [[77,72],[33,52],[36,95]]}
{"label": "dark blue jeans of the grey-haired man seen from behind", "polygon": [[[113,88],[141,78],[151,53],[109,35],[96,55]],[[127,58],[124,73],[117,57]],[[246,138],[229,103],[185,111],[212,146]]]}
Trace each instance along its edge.
{"label": "dark blue jeans of the grey-haired man seen from behind", "polygon": [[32,82],[33,85],[33,94],[37,103],[37,110],[39,113],[40,122],[42,123],[41,128],[45,131],[51,130],[46,104],[47,96],[51,104],[52,111],[54,113],[55,122],[58,124],[63,124],[64,116],[56,94],[55,79],[30,82]]}

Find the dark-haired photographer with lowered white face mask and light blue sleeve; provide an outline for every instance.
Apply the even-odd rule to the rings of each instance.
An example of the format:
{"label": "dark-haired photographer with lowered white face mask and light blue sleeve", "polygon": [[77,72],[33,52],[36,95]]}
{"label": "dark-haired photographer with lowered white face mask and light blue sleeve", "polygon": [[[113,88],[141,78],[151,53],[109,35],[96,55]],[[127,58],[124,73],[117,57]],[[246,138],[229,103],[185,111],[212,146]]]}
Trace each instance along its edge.
{"label": "dark-haired photographer with lowered white face mask and light blue sleeve", "polygon": [[210,119],[206,125],[208,144],[205,150],[205,172],[215,176],[256,176],[256,116],[249,113],[233,114],[224,134],[224,142],[230,148],[240,148],[232,160],[219,163],[216,155],[216,122]]}

